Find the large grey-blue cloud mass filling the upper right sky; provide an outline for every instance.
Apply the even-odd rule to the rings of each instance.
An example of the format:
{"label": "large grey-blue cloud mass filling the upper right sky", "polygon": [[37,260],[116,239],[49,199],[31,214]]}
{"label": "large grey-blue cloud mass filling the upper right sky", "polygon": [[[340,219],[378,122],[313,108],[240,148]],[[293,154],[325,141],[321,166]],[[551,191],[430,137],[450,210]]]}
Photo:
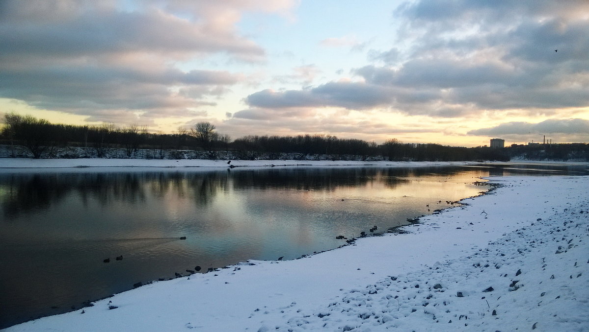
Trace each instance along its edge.
{"label": "large grey-blue cloud mass filling the upper right sky", "polygon": [[[484,112],[589,106],[589,21],[583,1],[417,1],[395,19],[401,49],[371,50],[384,65],[352,69],[362,82],[328,82],[300,90],[262,90],[246,98],[260,108],[388,109],[439,118]],[[342,46],[349,38],[325,39]],[[559,52],[554,52],[559,49]],[[562,52],[562,54],[561,54]]]}

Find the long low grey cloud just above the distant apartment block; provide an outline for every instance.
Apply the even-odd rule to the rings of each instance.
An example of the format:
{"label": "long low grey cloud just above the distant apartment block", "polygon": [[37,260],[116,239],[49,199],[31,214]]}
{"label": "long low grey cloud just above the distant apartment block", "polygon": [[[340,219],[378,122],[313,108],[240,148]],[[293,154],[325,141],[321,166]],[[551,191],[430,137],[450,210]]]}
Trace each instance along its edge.
{"label": "long low grey cloud just above the distant apartment block", "polygon": [[498,136],[535,134],[581,134],[589,136],[589,120],[548,119],[539,123],[507,122],[491,128],[470,130],[468,135]]}

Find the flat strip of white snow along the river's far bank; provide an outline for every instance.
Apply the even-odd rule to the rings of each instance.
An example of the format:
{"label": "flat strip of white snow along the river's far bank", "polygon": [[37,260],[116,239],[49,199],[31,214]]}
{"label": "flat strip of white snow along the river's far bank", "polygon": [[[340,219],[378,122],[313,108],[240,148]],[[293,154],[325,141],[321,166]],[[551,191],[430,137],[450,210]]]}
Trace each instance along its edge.
{"label": "flat strip of white snow along the river's far bank", "polygon": [[209,160],[209,159],[28,159],[0,158],[0,172],[17,170],[70,168],[84,170],[91,167],[92,171],[110,167],[272,167],[272,166],[447,166],[471,165],[474,162],[365,162],[356,160]]}

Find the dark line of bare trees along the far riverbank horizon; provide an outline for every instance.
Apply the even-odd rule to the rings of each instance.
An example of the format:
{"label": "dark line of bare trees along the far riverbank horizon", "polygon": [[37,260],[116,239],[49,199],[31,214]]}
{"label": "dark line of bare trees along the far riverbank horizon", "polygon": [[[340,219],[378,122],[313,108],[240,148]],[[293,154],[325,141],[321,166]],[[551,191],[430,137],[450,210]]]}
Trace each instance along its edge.
{"label": "dark line of bare trees along the far riverbank horizon", "polygon": [[[589,159],[589,145],[584,144],[497,149],[487,146],[402,143],[397,139],[389,139],[379,145],[323,134],[249,135],[231,140],[229,135],[217,133],[216,127],[209,122],[199,122],[190,129],[178,128],[175,133],[168,134],[149,133],[147,128],[137,125],[124,128],[112,123],[99,126],[62,125],[14,113],[5,115],[0,144],[11,146],[12,156],[15,146],[24,146],[35,158],[56,157],[59,149],[77,147],[82,151],[81,155],[61,157],[113,157],[112,150],[117,149],[123,151],[124,155],[120,157],[140,157],[140,150],[149,150],[150,153],[144,153],[142,157],[154,159],[313,159],[318,156],[332,160],[391,161],[507,161],[514,156],[524,156],[525,159]],[[180,153],[186,150],[194,153]],[[547,152],[550,152],[548,157]]]}

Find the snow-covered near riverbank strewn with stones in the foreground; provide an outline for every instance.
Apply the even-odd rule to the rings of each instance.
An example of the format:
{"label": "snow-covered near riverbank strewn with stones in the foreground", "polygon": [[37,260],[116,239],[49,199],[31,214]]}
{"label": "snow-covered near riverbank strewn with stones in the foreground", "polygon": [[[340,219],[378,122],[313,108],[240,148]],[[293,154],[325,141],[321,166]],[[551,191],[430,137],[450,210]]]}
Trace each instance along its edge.
{"label": "snow-covered near riverbank strewn with stones in the foreground", "polygon": [[589,177],[491,181],[503,186],[408,234],[156,282],[5,331],[587,331]]}

